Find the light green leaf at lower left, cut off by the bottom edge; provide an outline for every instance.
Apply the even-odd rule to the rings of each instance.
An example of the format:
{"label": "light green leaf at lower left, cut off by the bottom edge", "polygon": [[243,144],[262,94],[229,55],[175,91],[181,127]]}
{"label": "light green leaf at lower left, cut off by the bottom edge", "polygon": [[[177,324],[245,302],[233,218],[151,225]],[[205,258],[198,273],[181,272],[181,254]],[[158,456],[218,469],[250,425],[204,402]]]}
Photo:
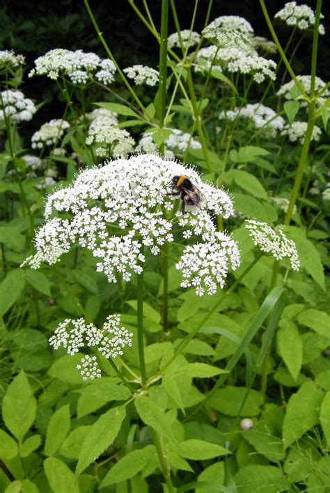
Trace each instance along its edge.
{"label": "light green leaf at lower left, cut off by the bottom edge", "polygon": [[49,457],[44,462],[44,469],[54,493],[80,493],[76,476],[64,462]]}

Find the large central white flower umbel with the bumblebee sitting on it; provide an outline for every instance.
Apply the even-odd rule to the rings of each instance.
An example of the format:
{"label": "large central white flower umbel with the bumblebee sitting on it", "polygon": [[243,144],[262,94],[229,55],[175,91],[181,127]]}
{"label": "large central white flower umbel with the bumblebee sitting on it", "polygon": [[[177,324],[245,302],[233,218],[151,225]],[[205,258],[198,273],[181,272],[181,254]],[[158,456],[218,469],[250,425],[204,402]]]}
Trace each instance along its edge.
{"label": "large central white flower umbel with the bumblebee sitting on it", "polygon": [[[235,255],[230,259],[233,268],[239,259],[229,236],[217,236],[207,209],[228,218],[233,214],[233,202],[223,190],[204,183],[193,168],[166,161],[155,154],[139,154],[88,169],[74,180],[70,188],[49,195],[45,208],[46,223],[36,234],[37,252],[25,263],[32,268],[38,268],[43,261],[55,264],[73,243],[78,242],[100,259],[97,271],[107,275],[109,282],[116,282],[118,275],[129,281],[132,272],[141,273],[143,269],[143,245],[152,254],[158,254],[166,241],[173,241],[173,223],[178,222],[179,213],[168,220],[164,209],[171,211],[174,207],[168,196],[168,184],[173,177],[180,175],[187,175],[206,198],[203,209],[187,207],[187,213],[180,216],[180,226],[188,230],[184,237],[193,233],[201,236],[197,249],[203,252],[211,252],[210,247],[203,250],[203,245],[212,243],[213,253],[205,257],[204,266],[206,268],[207,261],[210,261],[212,272],[217,272],[218,279],[214,252],[221,249],[229,251],[228,245],[231,245]],[[66,217],[70,213],[72,218],[51,218],[54,211],[65,213]],[[223,255],[219,259],[223,269]],[[198,276],[200,282],[201,275]],[[194,285],[192,279],[189,282]]]}

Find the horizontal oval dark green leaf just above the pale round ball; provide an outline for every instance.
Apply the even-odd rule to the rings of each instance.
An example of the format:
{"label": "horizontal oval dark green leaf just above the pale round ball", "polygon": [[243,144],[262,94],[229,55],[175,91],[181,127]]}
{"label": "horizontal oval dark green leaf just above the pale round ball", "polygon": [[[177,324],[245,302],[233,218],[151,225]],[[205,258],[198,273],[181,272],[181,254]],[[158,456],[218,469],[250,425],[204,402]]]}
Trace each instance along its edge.
{"label": "horizontal oval dark green leaf just above the pale round ball", "polygon": [[[257,416],[264,398],[261,392],[246,387],[227,385],[214,392],[208,404],[228,416]],[[243,407],[241,409],[241,406]]]}

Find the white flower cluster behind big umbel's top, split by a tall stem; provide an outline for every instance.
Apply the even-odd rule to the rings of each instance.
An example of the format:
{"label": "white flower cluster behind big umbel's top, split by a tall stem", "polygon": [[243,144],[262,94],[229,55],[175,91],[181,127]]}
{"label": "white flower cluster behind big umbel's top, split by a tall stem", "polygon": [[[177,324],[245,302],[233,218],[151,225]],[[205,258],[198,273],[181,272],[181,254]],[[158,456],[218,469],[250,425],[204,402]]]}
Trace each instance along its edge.
{"label": "white flower cluster behind big umbel's top, split by a tall stem", "polygon": [[[165,155],[167,158],[173,158],[174,156],[183,156],[187,147],[189,149],[201,149],[201,143],[198,140],[194,140],[190,134],[186,134],[179,129],[171,129],[173,132],[164,141]],[[152,134],[148,132],[144,134],[139,140],[139,144],[136,146],[137,152],[157,152],[158,147],[152,140]]]}

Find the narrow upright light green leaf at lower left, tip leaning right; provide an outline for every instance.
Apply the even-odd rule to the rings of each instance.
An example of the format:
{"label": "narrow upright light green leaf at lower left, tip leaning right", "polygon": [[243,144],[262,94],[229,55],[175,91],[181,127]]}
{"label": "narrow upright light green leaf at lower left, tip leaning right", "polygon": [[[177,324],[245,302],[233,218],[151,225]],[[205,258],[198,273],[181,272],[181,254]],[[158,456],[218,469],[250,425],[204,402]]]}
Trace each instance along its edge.
{"label": "narrow upright light green leaf at lower left, tip leaning right", "polygon": [[60,407],[49,420],[45,442],[45,454],[54,455],[70,430],[70,405]]}

